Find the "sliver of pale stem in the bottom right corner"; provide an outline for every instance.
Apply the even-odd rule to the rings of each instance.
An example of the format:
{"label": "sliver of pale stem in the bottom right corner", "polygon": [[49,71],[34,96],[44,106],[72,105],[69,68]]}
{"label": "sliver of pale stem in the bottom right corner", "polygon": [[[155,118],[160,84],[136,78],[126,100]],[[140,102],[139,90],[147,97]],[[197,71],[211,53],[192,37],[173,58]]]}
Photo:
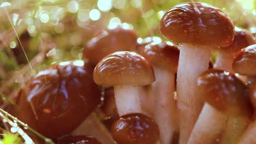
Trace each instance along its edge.
{"label": "sliver of pale stem in the bottom right corner", "polygon": [[253,121],[242,135],[238,144],[256,143],[256,121]]}

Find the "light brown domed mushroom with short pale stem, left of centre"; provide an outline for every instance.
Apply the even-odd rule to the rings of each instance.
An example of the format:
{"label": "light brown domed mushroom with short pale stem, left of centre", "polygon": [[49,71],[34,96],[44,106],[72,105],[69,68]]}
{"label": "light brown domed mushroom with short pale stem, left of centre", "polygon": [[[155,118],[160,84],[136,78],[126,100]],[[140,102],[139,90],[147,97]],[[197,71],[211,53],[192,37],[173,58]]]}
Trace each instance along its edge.
{"label": "light brown domed mushroom with short pale stem, left of centre", "polygon": [[[94,69],[97,85],[114,86],[115,103],[119,116],[141,112],[142,86],[155,81],[152,65],[135,52],[120,51],[104,57]],[[146,113],[149,115],[148,113]]]}

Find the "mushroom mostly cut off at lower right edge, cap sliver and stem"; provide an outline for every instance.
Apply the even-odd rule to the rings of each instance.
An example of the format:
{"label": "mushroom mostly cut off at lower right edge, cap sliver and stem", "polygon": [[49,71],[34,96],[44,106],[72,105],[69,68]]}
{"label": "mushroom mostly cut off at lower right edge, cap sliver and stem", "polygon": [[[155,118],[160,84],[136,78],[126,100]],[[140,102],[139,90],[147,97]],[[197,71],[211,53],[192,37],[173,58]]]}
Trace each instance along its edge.
{"label": "mushroom mostly cut off at lower right edge, cap sliver and stem", "polygon": [[[256,82],[254,82],[249,88],[249,96],[251,98],[254,111],[256,109]],[[246,129],[245,133],[243,134],[241,140],[238,142],[239,144],[243,143],[256,143],[256,121],[249,124],[248,128]]]}

